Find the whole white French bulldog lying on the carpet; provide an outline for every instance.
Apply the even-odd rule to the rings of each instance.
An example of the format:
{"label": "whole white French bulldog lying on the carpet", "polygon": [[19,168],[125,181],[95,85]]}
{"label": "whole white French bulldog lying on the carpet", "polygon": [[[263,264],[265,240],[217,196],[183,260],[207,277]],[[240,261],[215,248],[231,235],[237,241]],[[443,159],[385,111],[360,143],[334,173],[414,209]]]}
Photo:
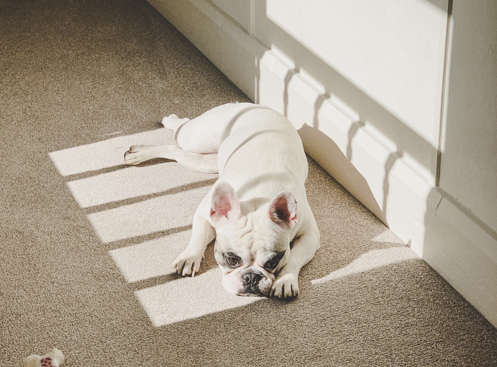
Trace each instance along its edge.
{"label": "whole white French bulldog lying on the carpet", "polygon": [[176,160],[219,180],[193,217],[190,243],[176,258],[178,274],[198,272],[207,245],[233,294],[291,298],[298,275],[319,249],[307,202],[307,158],[291,122],[268,107],[229,103],[189,120],[162,120],[176,146],[132,146],[125,163]]}

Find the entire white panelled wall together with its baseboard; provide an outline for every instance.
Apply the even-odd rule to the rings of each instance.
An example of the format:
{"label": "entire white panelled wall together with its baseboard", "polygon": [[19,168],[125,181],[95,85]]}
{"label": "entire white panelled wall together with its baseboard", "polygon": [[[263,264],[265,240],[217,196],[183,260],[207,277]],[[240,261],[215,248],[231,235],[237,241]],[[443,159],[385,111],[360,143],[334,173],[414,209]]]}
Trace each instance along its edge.
{"label": "entire white panelled wall together with its baseboard", "polygon": [[149,1],[497,324],[495,4]]}

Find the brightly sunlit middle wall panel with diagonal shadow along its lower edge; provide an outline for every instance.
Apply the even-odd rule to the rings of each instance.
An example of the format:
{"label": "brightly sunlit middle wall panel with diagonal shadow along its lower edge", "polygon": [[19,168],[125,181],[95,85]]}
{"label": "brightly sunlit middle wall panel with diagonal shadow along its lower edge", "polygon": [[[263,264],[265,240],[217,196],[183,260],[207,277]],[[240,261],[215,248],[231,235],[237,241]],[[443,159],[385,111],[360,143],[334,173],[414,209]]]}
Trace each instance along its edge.
{"label": "brightly sunlit middle wall panel with diagonal shadow along its lower edge", "polygon": [[[446,20],[444,10],[425,0],[325,0],[313,6],[268,0],[265,8],[256,6],[254,33],[316,77],[326,94],[357,104],[352,106],[356,111],[356,95],[363,94],[372,100],[370,105],[391,114],[385,120],[364,111],[360,118],[374,120],[370,122],[409,151],[429,175],[427,146],[438,145],[433,121],[440,116],[438,76],[445,45],[440,32],[445,36]],[[336,81],[349,83],[349,90],[336,87]],[[406,128],[411,136],[400,130]],[[421,140],[425,143],[419,144]]]}

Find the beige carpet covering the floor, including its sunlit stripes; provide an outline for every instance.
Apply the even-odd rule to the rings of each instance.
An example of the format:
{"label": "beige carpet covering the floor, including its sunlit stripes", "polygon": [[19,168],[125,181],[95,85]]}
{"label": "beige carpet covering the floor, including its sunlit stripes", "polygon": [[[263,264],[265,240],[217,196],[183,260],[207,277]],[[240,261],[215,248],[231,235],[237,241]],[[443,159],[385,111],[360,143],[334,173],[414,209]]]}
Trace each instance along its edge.
{"label": "beige carpet covering the floor, including its sunlit stripes", "polygon": [[144,0],[0,0],[0,366],[492,366],[497,332],[310,161],[321,249],[293,301],[172,259],[215,175],[123,166],[170,113],[247,101]]}

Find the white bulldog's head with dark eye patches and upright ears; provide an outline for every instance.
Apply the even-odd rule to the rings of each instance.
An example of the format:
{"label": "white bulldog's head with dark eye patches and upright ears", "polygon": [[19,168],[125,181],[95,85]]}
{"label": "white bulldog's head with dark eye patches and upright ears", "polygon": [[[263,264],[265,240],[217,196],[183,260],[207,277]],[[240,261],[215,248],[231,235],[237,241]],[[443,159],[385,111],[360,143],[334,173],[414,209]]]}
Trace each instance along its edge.
{"label": "white bulldog's head with dark eye patches and upright ears", "polygon": [[213,191],[210,215],[223,287],[233,294],[267,296],[290,255],[290,231],[297,223],[293,194],[283,191],[242,214],[237,194],[230,184],[221,182]]}

